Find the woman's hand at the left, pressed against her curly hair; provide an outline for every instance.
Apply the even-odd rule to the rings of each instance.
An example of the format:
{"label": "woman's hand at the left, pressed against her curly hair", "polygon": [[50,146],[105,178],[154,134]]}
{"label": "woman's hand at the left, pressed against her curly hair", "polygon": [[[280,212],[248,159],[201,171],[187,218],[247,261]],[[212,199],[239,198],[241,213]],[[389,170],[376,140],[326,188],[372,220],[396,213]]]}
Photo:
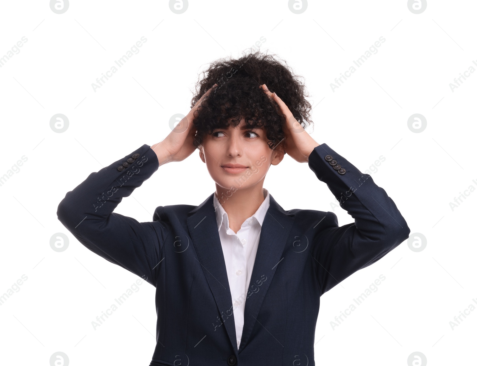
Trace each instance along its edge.
{"label": "woman's hand at the left, pressed against her curly hair", "polygon": [[189,113],[187,113],[187,116],[177,123],[176,127],[164,140],[151,146],[154,152],[156,152],[159,165],[166,164],[170,161],[182,161],[194,152],[196,148],[193,141],[197,132],[193,123],[194,112],[216,86],[217,84],[204,93]]}

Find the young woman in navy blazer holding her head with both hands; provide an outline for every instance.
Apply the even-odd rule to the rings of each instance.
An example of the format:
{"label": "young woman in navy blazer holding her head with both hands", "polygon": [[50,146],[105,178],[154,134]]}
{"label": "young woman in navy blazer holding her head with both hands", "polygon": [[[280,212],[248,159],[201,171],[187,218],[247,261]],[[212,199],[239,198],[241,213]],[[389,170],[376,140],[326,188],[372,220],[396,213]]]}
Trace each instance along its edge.
{"label": "young woman in navy blazer holding her head with both hands", "polygon": [[[311,106],[285,62],[256,52],[218,60],[205,74],[165,139],[90,174],[58,218],[85,247],[156,287],[150,365],[294,365],[297,357],[314,365],[321,295],[410,230],[383,188],[305,131]],[[160,166],[196,148],[215,181],[204,202],[159,206],[151,222],[113,212]],[[263,182],[285,154],[308,164],[353,224],[281,208]]]}

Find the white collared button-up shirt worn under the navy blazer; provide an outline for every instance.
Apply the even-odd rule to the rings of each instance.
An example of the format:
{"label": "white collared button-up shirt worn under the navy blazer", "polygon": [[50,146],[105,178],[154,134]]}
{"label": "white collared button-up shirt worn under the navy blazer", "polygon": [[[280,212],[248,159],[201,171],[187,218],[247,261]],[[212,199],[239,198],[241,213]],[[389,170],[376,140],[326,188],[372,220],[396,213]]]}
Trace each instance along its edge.
{"label": "white collared button-up shirt worn under the navy blazer", "polygon": [[262,223],[270,206],[270,194],[265,188],[263,188],[263,195],[265,200],[257,211],[244,221],[236,234],[228,227],[227,212],[225,212],[214,193],[218,234],[222,244],[225,266],[227,267],[230,294],[232,295],[237,348],[239,348],[240,340],[242,339],[245,300],[255,263],[255,256],[257,255],[257,248],[259,247]]}

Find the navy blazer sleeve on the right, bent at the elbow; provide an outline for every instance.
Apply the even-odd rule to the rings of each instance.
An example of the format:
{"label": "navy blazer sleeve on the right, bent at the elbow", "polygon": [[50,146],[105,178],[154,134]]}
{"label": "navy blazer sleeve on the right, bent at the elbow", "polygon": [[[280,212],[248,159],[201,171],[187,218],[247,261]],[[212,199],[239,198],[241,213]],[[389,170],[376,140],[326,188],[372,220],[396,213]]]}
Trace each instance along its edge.
{"label": "navy blazer sleeve on the right, bent at the elbow", "polygon": [[336,215],[326,212],[315,227],[311,255],[322,295],[384,257],[409,237],[410,229],[384,189],[327,144],[313,149],[308,166],[354,218],[338,226]]}

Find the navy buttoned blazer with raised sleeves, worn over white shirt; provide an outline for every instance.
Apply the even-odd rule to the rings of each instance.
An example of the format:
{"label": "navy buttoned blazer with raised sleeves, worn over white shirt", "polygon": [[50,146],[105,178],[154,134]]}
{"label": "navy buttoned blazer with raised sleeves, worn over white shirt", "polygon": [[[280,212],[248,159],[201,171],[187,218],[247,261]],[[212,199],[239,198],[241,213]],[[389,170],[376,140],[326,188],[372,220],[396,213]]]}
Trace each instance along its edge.
{"label": "navy buttoned blazer with raised sleeves, worn over white shirt", "polygon": [[150,366],[314,365],[320,296],[410,230],[384,189],[327,144],[313,149],[308,166],[354,223],[338,226],[333,212],[284,210],[270,195],[239,349],[213,194],[199,206],[159,206],[150,222],[113,212],[159,168],[149,145],[91,173],[57,215],[85,247],[156,287]]}

